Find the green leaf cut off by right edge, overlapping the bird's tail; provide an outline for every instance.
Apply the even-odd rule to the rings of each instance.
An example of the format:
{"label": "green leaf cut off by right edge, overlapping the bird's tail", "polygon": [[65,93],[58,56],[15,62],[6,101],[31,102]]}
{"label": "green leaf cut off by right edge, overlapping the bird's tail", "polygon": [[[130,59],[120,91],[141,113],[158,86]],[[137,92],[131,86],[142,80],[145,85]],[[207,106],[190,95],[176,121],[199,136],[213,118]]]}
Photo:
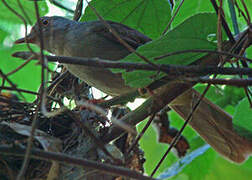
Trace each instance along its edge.
{"label": "green leaf cut off by right edge, overlapping the bird's tail", "polygon": [[252,109],[247,98],[236,107],[233,125],[239,135],[252,139]]}

